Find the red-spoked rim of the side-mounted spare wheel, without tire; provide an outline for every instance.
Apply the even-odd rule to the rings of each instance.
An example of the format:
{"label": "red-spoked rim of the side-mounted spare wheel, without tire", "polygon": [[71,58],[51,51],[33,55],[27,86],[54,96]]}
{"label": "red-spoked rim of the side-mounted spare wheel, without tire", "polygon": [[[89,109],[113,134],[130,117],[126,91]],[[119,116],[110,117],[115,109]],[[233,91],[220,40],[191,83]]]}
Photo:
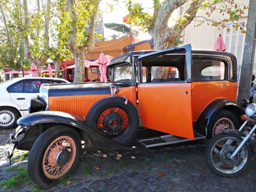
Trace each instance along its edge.
{"label": "red-spoked rim of the side-mounted spare wheel, without tire", "polygon": [[118,137],[128,130],[129,117],[124,109],[109,107],[101,112],[96,124],[101,134],[110,138]]}

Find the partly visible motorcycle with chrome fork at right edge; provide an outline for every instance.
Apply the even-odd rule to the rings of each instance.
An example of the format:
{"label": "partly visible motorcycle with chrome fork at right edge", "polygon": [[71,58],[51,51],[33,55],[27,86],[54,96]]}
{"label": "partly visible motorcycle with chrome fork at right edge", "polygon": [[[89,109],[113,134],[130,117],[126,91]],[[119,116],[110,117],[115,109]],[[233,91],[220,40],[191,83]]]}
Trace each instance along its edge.
{"label": "partly visible motorcycle with chrome fork at right edge", "polygon": [[233,177],[248,168],[256,141],[255,114],[256,104],[247,105],[245,115],[241,116],[245,121],[239,130],[223,129],[206,142],[206,163],[216,174]]}

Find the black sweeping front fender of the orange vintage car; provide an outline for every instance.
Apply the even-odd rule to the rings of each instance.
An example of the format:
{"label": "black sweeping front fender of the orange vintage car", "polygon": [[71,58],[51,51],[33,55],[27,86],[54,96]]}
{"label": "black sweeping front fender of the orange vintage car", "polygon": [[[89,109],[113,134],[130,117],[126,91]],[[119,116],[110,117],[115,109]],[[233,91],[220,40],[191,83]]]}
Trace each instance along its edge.
{"label": "black sweeping front fender of the orange vintage car", "polygon": [[[57,124],[57,125],[62,124],[62,125],[68,125],[70,127],[73,127],[79,132],[81,138],[83,138],[83,135],[85,135],[86,138],[89,139],[95,146],[100,147],[103,150],[119,150],[119,149],[137,150],[132,147],[120,145],[117,142],[109,139],[108,137],[105,137],[99,134],[99,132],[95,131],[94,129],[91,129],[88,125],[86,125],[86,121],[84,119],[76,115],[67,114],[66,112],[60,112],[60,111],[34,112],[33,114],[29,114],[19,119],[17,121],[17,124],[22,127],[27,127],[24,137],[19,141],[20,147],[18,147],[18,149],[26,148],[26,147],[22,147],[22,145],[25,145],[25,142],[29,140],[28,137],[33,135],[31,134],[33,130],[41,129],[40,126],[44,127],[44,125],[47,125],[47,124]],[[28,134],[29,132],[30,134]],[[39,132],[40,134],[42,134],[42,131],[39,131]],[[37,135],[37,137],[38,136],[39,135]],[[27,147],[26,150],[29,150],[29,147]]]}

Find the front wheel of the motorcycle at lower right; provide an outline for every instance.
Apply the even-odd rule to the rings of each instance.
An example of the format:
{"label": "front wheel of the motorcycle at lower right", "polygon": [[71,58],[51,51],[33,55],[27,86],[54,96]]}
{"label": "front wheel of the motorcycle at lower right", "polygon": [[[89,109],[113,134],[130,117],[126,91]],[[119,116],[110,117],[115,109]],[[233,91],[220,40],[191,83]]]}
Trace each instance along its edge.
{"label": "front wheel of the motorcycle at lower right", "polygon": [[241,137],[229,134],[218,134],[205,146],[207,165],[216,174],[233,177],[242,173],[251,161],[252,152],[249,146],[243,146],[233,160],[229,156],[240,144]]}

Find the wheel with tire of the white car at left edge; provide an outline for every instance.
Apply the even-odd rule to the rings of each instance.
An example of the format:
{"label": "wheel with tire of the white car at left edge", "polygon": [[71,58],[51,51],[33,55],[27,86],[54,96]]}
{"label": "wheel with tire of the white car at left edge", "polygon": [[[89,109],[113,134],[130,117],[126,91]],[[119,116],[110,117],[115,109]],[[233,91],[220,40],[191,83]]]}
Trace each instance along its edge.
{"label": "wheel with tire of the white car at left edge", "polygon": [[0,107],[0,129],[14,128],[18,118],[18,112],[12,107]]}

